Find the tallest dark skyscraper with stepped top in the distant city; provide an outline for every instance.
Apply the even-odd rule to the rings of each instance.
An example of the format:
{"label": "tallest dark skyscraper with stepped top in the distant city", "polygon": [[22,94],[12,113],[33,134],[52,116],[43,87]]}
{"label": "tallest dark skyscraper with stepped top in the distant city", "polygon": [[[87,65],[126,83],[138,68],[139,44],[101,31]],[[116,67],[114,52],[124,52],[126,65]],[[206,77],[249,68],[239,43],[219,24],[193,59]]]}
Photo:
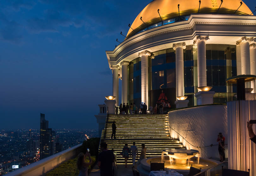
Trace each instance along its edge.
{"label": "tallest dark skyscraper with stepped top in the distant city", "polygon": [[52,129],[45,114],[40,113],[40,159],[52,155]]}

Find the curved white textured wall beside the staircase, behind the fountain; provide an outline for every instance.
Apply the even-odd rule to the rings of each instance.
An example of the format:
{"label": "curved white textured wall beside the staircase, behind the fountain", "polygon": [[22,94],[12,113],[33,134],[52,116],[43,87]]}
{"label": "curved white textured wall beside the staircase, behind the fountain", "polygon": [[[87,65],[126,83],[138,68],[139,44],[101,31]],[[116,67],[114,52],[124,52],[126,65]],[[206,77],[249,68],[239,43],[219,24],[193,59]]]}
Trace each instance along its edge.
{"label": "curved white textured wall beside the staircase, behind the fountain", "polygon": [[[194,146],[210,146],[218,144],[217,135],[222,132],[228,142],[227,106],[209,105],[171,111],[168,113],[169,125]],[[218,158],[218,146],[196,148],[188,144],[180,135],[169,128],[172,138],[179,138],[187,149],[200,152],[200,157]],[[225,146],[228,157],[228,146]]]}

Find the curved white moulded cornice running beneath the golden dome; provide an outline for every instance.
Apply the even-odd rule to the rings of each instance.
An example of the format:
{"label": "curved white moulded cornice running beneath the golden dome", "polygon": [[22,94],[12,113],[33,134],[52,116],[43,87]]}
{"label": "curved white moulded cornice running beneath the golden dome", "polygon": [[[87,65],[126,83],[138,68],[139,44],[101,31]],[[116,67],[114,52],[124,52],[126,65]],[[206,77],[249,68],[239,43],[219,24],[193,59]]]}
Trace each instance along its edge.
{"label": "curved white moulded cornice running beneath the golden dome", "polygon": [[[245,27],[245,29],[248,28],[249,30],[241,32],[241,30],[236,30],[234,26]],[[256,27],[256,16],[254,15],[191,14],[187,21],[175,22],[146,30],[129,37],[119,44],[113,51],[106,51],[109,67],[111,64],[120,63],[131,54],[136,58],[137,53],[143,49],[146,50],[147,48],[156,45],[173,44],[175,42],[178,43],[181,41],[192,40],[198,35],[234,37],[255,36],[256,32],[253,32],[253,26]],[[230,30],[227,30],[226,27],[230,28]],[[172,35],[174,32],[179,31],[187,32],[184,33],[186,34],[185,36],[178,35],[175,37]],[[142,41],[142,46],[139,46],[138,43]],[[149,43],[149,41],[151,41],[151,43]],[[233,42],[235,44],[235,41]],[[190,43],[186,44],[188,45]],[[113,63],[111,64],[110,59],[111,61],[113,60]]]}

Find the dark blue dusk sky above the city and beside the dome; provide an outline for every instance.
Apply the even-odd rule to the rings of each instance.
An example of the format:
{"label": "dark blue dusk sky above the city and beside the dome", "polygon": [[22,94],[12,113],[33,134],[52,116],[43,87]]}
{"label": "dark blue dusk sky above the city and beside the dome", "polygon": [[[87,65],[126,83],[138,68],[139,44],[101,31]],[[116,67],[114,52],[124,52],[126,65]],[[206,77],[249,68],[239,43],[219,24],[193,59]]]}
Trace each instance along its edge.
{"label": "dark blue dusk sky above the city and beside the dome", "polygon": [[39,128],[40,113],[50,128],[98,128],[112,95],[105,51],[149,2],[0,0],[0,129]]}

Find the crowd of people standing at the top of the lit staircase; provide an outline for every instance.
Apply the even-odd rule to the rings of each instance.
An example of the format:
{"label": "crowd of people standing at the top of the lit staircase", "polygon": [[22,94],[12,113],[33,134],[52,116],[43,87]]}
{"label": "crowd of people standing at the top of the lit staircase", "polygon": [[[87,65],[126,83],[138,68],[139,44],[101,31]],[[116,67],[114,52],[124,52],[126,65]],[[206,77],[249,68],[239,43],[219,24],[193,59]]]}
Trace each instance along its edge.
{"label": "crowd of people standing at the top of the lit staircase", "polygon": [[[152,106],[149,107],[149,113],[150,114],[163,114],[163,107],[164,104],[161,102],[158,105],[156,104],[155,107],[153,108]],[[140,107],[138,108],[135,103],[131,103],[130,106],[128,103],[121,103],[118,106],[115,106],[115,114],[123,114],[123,115],[128,115],[128,114],[147,114],[148,106],[146,103],[141,103]]]}

